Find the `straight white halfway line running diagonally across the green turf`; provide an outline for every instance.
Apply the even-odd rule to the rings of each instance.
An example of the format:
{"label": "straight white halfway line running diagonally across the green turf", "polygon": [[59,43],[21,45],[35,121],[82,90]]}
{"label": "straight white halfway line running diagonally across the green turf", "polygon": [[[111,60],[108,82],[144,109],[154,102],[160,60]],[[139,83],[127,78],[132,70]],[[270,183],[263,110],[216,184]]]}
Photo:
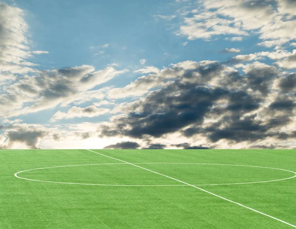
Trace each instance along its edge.
{"label": "straight white halfway line running diagonally across the green turf", "polygon": [[129,164],[129,165],[132,165],[132,166],[138,167],[138,168],[140,168],[140,169],[143,169],[143,170],[146,170],[146,171],[149,171],[149,172],[153,172],[153,173],[156,173],[156,174],[161,175],[161,176],[165,176],[165,177],[170,178],[170,179],[172,179],[172,180],[179,181],[179,182],[181,182],[181,183],[183,183],[183,184],[186,184],[186,185],[191,186],[191,187],[193,187],[193,188],[199,189],[200,191],[203,191],[203,192],[206,192],[206,193],[208,193],[208,194],[211,194],[211,195],[213,195],[213,196],[215,196],[215,197],[218,197],[218,198],[220,198],[220,199],[222,199],[222,200],[226,200],[226,201],[229,201],[229,202],[231,202],[231,203],[235,203],[235,204],[237,204],[237,205],[239,205],[239,206],[245,207],[245,208],[247,208],[247,209],[249,209],[249,210],[252,210],[252,211],[255,211],[255,212],[257,212],[257,213],[259,213],[259,214],[261,214],[261,215],[267,216],[267,217],[272,218],[272,219],[274,219],[274,220],[277,220],[277,221],[279,221],[279,222],[281,222],[281,223],[287,224],[287,225],[289,225],[289,226],[291,226],[291,227],[293,227],[293,228],[296,228],[296,226],[293,225],[293,224],[289,224],[288,222],[285,222],[285,221],[283,221],[283,220],[280,220],[280,219],[278,219],[278,218],[275,218],[275,217],[273,217],[273,216],[271,216],[271,215],[267,215],[267,214],[265,214],[265,213],[263,213],[263,212],[257,211],[257,210],[255,210],[255,209],[253,209],[253,208],[251,208],[251,207],[248,207],[248,206],[245,206],[245,205],[243,205],[243,204],[241,204],[241,203],[238,203],[238,202],[235,202],[235,201],[232,201],[232,200],[228,200],[228,199],[226,199],[226,198],[224,198],[224,197],[222,197],[222,196],[219,196],[219,195],[217,195],[217,194],[215,194],[215,193],[211,193],[211,192],[209,192],[209,191],[207,191],[207,190],[204,190],[204,189],[202,189],[202,188],[196,187],[196,186],[194,186],[194,185],[192,185],[192,184],[188,184],[188,183],[186,183],[186,182],[184,182],[184,181],[182,181],[182,180],[178,180],[178,179],[176,179],[176,178],[173,178],[173,177],[171,177],[171,176],[167,176],[167,175],[162,174],[162,173],[159,173],[159,172],[154,172],[154,171],[152,171],[152,170],[148,170],[148,169],[146,169],[146,168],[144,168],[144,167],[137,166],[137,165],[135,165],[135,164],[132,164],[132,163],[129,163],[129,162],[126,162],[126,161],[123,161],[123,160],[120,160],[120,159],[117,159],[117,158],[114,158],[114,157],[110,157],[110,156],[107,156],[107,155],[105,155],[105,154],[102,154],[102,153],[98,153],[98,152],[92,151],[92,150],[90,150],[90,149],[87,149],[87,150],[88,150],[88,151],[91,151],[91,152],[93,152],[93,153],[97,153],[97,154],[99,154],[99,155],[105,156],[105,157],[109,157],[109,158],[114,159],[114,160],[117,160],[117,161],[121,161],[121,162],[127,163],[127,164]]}

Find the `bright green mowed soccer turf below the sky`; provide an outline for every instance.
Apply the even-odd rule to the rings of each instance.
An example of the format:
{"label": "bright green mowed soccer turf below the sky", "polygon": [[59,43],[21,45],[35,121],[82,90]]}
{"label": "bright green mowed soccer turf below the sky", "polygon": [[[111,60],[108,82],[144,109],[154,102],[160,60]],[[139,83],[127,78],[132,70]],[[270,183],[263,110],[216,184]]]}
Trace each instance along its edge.
{"label": "bright green mowed soccer turf below the sky", "polygon": [[[296,225],[296,178],[249,183],[294,176],[296,150],[93,151]],[[150,171],[88,150],[1,150],[0,228],[293,228]],[[209,185],[230,183],[249,184]]]}

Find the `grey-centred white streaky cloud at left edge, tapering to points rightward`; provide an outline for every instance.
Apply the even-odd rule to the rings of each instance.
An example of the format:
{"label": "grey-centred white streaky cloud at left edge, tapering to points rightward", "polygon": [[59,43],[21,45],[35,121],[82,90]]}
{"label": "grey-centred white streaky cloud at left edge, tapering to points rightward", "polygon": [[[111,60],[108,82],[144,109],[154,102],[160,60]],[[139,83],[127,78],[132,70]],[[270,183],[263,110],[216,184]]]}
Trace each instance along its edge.
{"label": "grey-centred white streaky cloud at left edge, tapering to points rightward", "polygon": [[[24,76],[14,84],[4,86],[0,94],[0,115],[11,117],[35,113],[59,104],[103,99],[101,91],[91,90],[127,70],[117,71],[107,67],[96,71],[93,66],[38,71],[34,76]],[[31,106],[23,107],[26,102]]]}

